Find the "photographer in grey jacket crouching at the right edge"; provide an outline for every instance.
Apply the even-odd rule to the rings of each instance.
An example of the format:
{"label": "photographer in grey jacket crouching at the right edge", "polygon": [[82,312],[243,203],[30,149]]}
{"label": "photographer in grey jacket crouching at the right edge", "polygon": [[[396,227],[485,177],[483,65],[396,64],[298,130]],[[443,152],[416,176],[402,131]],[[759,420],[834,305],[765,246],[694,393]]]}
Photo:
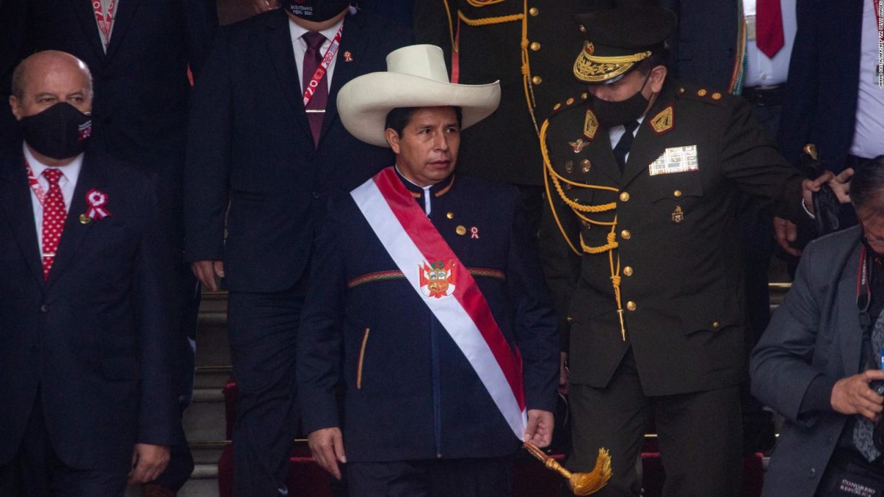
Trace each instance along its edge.
{"label": "photographer in grey jacket crouching at the right edge", "polygon": [[807,246],[752,353],[752,393],[786,417],[763,497],[884,493],[884,156],[850,201],[859,226]]}

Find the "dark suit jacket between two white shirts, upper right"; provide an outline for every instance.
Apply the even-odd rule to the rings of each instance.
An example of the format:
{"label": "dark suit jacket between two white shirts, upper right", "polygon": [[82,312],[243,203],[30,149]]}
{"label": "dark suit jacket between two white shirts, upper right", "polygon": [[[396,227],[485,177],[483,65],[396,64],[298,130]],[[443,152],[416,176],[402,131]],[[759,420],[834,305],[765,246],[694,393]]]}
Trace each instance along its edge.
{"label": "dark suit jacket between two white shirts, upper right", "polygon": [[796,9],[780,148],[796,164],[804,145],[816,143],[820,160],[841,172],[857,122],[863,0],[806,0]]}

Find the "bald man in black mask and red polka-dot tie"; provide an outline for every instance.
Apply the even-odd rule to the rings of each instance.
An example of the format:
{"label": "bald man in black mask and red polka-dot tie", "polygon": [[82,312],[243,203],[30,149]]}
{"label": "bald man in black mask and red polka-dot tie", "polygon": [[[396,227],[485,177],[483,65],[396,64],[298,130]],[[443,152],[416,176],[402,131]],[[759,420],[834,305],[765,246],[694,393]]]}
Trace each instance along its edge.
{"label": "bald man in black mask and red polka-dot tie", "polygon": [[83,153],[92,83],[43,51],[13,76],[0,158],[0,494],[114,495],[175,437],[171,277],[155,177]]}

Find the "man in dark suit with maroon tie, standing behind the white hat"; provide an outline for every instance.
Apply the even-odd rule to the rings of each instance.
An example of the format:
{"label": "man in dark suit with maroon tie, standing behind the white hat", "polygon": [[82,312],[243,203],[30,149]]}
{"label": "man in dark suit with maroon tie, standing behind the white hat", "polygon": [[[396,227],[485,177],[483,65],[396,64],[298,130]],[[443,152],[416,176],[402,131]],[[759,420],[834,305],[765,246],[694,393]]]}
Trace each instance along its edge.
{"label": "man in dark suit with maroon tie, standing behind the white hat", "polygon": [[406,28],[347,0],[284,2],[222,28],[194,88],[186,256],[204,285],[215,288],[217,275],[230,292],[237,495],[285,491],[294,339],[327,197],[393,160],[347,133],[335,98],[409,42]]}

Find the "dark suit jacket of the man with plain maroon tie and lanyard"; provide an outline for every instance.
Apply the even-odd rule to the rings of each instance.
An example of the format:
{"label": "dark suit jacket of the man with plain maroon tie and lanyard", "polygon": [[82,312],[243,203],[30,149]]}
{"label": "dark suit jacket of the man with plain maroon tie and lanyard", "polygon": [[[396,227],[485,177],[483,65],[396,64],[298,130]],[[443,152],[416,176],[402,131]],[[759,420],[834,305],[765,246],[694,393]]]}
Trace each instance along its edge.
{"label": "dark suit jacket of the man with plain maroon tie and lanyard", "polygon": [[386,71],[387,54],[408,45],[410,31],[362,11],[345,18],[316,149],[288,23],[275,10],[219,30],[194,88],[186,256],[224,259],[233,291],[292,287],[308,263],[327,194],[349,191],[393,160],[389,149],[347,133],[336,99],[347,81]]}

